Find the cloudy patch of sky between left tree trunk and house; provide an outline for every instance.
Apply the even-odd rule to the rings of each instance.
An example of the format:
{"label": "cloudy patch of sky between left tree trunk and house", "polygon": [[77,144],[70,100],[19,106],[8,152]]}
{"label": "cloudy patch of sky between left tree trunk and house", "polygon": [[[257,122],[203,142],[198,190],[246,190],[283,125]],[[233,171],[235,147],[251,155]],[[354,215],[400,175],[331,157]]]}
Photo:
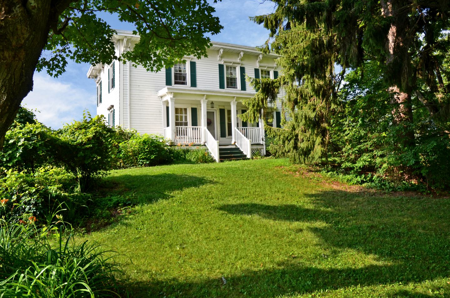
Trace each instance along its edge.
{"label": "cloudy patch of sky between left tree trunk and house", "polygon": [[27,108],[37,109],[38,121],[53,129],[61,128],[65,123],[80,120],[83,110],[88,109],[95,115],[95,86],[74,86],[73,83],[60,81],[43,73],[35,73],[34,88],[23,100]]}

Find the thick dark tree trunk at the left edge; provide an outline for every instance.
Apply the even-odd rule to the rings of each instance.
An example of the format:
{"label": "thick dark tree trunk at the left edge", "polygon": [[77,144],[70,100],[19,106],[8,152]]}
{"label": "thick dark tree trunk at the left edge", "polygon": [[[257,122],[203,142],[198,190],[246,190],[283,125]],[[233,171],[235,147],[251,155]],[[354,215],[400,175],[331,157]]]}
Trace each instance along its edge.
{"label": "thick dark tree trunk at the left edge", "polygon": [[23,98],[51,26],[70,1],[0,0],[0,148]]}

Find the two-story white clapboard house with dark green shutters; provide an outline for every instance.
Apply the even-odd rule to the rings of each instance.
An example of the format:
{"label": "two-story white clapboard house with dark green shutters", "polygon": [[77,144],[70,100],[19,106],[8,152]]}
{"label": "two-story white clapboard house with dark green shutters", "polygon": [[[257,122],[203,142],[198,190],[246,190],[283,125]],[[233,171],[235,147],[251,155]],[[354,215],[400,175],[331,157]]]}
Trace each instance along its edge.
{"label": "two-story white clapboard house with dark green shutters", "polygon": [[[120,55],[139,36],[117,31],[113,41]],[[264,155],[262,120],[247,123],[239,115],[247,109],[242,100],[255,95],[245,75],[278,77],[278,56],[244,45],[212,44],[207,57],[186,56],[185,62],[160,72],[119,61],[91,66],[87,76],[97,84],[97,114],[105,115],[110,126],[164,135],[174,144],[204,144],[216,161],[229,158],[230,151],[248,158],[256,151]],[[266,119],[279,127],[280,108],[274,107]]]}

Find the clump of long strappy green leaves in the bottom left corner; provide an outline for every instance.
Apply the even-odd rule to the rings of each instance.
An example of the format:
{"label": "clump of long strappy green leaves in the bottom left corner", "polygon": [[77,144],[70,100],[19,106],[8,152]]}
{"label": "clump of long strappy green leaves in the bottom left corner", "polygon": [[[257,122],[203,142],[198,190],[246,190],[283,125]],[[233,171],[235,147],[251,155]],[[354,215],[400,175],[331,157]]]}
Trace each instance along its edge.
{"label": "clump of long strappy green leaves in the bottom left corner", "polygon": [[120,297],[110,252],[63,239],[62,228],[22,222],[0,221],[2,297]]}

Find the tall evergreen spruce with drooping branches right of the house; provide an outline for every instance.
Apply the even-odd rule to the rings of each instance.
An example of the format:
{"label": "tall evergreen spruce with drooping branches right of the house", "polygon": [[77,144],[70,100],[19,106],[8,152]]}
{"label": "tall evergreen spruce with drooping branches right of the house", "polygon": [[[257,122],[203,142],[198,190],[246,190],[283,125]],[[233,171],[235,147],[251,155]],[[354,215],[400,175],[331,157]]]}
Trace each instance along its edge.
{"label": "tall evergreen spruce with drooping branches right of the house", "polygon": [[[252,80],[259,91],[247,100],[244,118],[258,119],[265,101],[283,101],[292,120],[284,121],[283,129],[266,126],[275,136],[273,152],[302,163],[327,158],[343,75],[359,68],[364,76],[368,60],[378,63],[390,94],[398,153],[414,147],[414,108],[426,108],[430,118],[448,119],[450,80],[442,53],[449,50],[449,1],[272,2],[274,13],[252,19],[270,30],[261,50],[280,54],[277,63],[284,71],[276,80]],[[278,90],[285,91],[282,99]],[[413,97],[423,106],[414,107]]]}

